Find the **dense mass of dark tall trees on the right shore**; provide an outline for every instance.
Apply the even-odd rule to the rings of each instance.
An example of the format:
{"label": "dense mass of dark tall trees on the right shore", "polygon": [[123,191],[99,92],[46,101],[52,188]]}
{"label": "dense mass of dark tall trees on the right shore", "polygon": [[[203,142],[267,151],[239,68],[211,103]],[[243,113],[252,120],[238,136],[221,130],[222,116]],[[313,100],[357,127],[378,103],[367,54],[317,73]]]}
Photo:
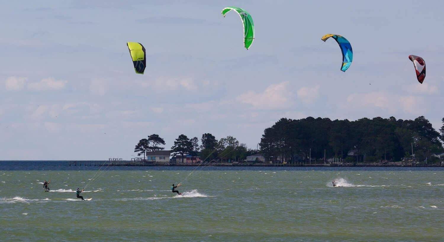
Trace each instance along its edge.
{"label": "dense mass of dark tall trees on the right shore", "polygon": [[[349,162],[400,161],[438,162],[433,153],[444,152],[444,118],[440,132],[420,116],[414,120],[390,117],[356,121],[328,118],[285,119],[266,128],[260,147],[273,162],[308,162],[324,156],[346,158]],[[353,151],[354,156],[347,156]]]}

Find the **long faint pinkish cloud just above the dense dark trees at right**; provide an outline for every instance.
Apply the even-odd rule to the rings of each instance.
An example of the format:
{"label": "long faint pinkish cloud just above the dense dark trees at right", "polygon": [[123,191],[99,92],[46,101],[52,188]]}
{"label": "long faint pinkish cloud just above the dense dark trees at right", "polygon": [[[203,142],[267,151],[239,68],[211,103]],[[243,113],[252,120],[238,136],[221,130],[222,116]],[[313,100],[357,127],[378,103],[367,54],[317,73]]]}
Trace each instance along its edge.
{"label": "long faint pinkish cloud just above the dense dark trees at right", "polygon": [[396,95],[382,91],[355,93],[347,97],[349,107],[377,107],[390,112],[403,111],[409,114],[422,114],[426,111],[424,100],[418,96]]}

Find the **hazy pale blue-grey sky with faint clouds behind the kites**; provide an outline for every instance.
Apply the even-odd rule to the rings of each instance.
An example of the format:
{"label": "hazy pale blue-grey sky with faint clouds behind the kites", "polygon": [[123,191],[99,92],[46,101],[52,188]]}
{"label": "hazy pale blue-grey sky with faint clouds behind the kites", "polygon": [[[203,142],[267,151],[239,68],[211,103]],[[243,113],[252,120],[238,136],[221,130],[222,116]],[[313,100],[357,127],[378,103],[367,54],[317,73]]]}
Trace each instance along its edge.
{"label": "hazy pale blue-grey sky with faint clouds behind the kites", "polygon": [[[253,17],[247,51],[237,6]],[[159,134],[256,148],[285,117],[444,117],[444,2],[8,1],[0,4],[0,160],[131,159]],[[353,63],[325,34],[345,36]],[[147,51],[135,74],[127,42]],[[408,55],[424,58],[416,80]]]}

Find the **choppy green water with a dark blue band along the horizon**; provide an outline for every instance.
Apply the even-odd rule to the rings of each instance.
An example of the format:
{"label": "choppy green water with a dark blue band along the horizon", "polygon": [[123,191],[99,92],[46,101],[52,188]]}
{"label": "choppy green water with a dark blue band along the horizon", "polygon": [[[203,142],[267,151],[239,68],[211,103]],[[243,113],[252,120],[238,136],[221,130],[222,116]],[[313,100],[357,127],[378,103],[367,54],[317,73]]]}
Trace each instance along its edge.
{"label": "choppy green water with a dark blue band along the horizon", "polygon": [[[194,167],[108,167],[88,180],[98,168],[0,162],[1,240],[444,238],[442,168],[204,167],[178,188],[182,196],[170,185]],[[79,201],[74,191],[88,182],[82,195],[92,200]]]}

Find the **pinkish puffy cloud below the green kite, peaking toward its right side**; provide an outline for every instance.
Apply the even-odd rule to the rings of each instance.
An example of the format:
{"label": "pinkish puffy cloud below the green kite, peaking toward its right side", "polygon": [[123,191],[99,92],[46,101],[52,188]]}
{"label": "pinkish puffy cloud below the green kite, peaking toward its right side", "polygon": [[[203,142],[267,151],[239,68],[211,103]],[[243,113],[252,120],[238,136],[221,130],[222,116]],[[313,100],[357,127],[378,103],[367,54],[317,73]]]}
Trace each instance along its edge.
{"label": "pinkish puffy cloud below the green kite, peaking toward its right side", "polygon": [[289,82],[282,82],[270,85],[262,93],[248,91],[237,97],[242,103],[251,104],[258,109],[279,109],[288,107],[291,103],[290,91],[288,90]]}

